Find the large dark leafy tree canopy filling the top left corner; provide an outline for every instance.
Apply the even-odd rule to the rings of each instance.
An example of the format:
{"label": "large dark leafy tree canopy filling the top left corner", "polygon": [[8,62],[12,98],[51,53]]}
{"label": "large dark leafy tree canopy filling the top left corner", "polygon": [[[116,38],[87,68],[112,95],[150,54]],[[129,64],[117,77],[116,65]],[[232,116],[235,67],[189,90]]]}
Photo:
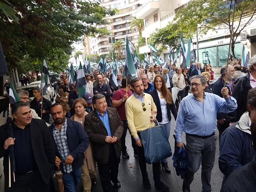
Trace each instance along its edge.
{"label": "large dark leafy tree canopy filling the top left corner", "polygon": [[[109,24],[106,16],[115,14],[115,10],[101,7],[98,2],[84,0],[8,0],[8,3],[5,0],[4,3],[12,8],[7,12],[6,8],[0,8],[0,41],[6,61],[10,69],[27,71],[39,69],[42,62],[34,61],[43,58],[48,58],[49,68],[60,63],[60,58],[67,63],[66,55],[72,54],[72,44],[82,41],[84,35],[108,34],[107,29],[95,24]],[[25,62],[28,65],[22,66]]]}

